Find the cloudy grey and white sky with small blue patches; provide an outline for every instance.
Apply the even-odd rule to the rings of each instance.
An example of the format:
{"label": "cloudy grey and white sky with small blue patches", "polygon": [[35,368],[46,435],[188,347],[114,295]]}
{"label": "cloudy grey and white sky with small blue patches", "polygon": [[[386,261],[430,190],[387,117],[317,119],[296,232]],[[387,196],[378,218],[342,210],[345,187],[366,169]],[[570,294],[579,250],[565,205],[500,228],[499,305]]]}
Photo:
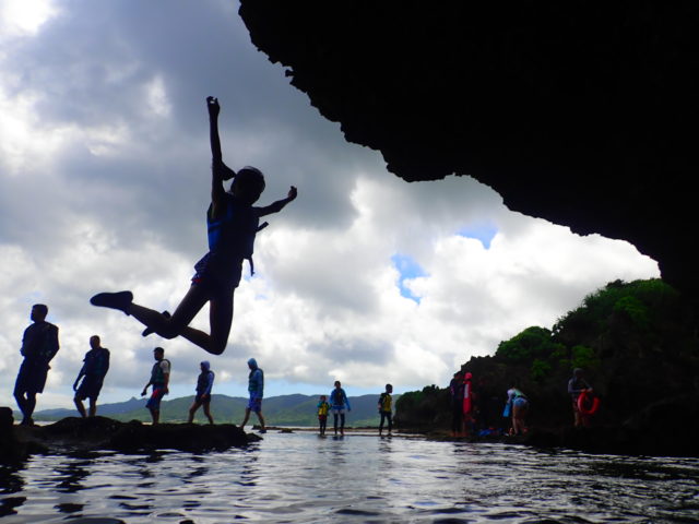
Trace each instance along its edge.
{"label": "cloudy grey and white sky with small blue patches", "polygon": [[[3,0],[0,3],[0,405],[11,405],[31,306],[60,327],[37,409],[70,406],[99,334],[111,350],[100,402],[173,362],[170,397],[198,362],[215,392],[245,395],[246,361],[266,395],[396,392],[448,383],[472,355],[529,325],[550,327],[605,283],[657,276],[630,245],[508,211],[466,177],[406,183],[346,143],[249,40],[232,0]],[[206,250],[205,96],[222,105],[224,159],[258,166],[261,204],[297,186],[256,243],[223,356],[140,336],[100,290],[173,310]],[[245,274],[249,272],[245,270]],[[194,320],[208,331],[206,309]]]}

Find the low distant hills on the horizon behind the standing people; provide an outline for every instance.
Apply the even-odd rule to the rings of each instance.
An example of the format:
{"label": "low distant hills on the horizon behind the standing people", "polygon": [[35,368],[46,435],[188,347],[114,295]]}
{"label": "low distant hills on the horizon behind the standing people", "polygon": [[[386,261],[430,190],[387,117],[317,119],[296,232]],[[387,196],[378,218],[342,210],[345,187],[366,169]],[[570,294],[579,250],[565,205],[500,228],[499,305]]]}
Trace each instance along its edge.
{"label": "low distant hills on the horizon behind the standing people", "polygon": [[[400,395],[393,395],[393,402]],[[319,395],[280,395],[264,398],[262,413],[270,426],[297,426],[312,427],[318,424],[316,405]],[[350,404],[352,412],[347,414],[347,426],[378,426],[379,415],[377,413],[377,402],[379,395],[351,396]],[[165,400],[161,404],[161,421],[181,422],[187,420],[189,407],[194,401],[193,396],[182,396],[179,398]],[[98,404],[97,414],[110,417],[116,420],[142,420],[150,421],[151,414],[145,408],[146,398],[131,397],[126,402],[114,404]],[[211,413],[215,421],[239,424],[245,414],[245,406],[248,400],[241,396],[213,395],[211,401]],[[60,420],[66,417],[78,415],[75,409],[44,409],[34,414],[34,419],[39,421]],[[20,417],[14,414],[15,419]],[[200,408],[194,421],[204,422],[204,416]],[[257,424],[257,418],[252,416],[252,422]],[[329,425],[332,425],[332,416]]]}

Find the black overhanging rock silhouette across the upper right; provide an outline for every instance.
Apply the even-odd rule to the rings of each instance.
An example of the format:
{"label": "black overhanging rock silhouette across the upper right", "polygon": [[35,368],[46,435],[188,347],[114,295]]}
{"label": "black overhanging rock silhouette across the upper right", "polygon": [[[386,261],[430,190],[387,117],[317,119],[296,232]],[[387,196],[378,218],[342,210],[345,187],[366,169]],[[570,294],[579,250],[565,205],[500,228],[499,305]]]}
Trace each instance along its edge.
{"label": "black overhanging rock silhouette across the upper right", "polygon": [[252,43],[407,181],[470,175],[696,296],[696,2],[241,0]]}

